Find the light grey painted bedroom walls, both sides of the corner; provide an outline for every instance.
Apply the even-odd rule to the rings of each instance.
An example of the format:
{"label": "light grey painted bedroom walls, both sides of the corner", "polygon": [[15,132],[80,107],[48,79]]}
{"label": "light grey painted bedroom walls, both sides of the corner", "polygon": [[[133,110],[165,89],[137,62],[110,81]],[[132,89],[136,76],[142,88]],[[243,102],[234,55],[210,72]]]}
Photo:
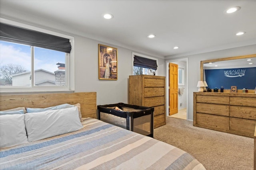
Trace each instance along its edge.
{"label": "light grey painted bedroom walls, both sides of the corner", "polygon": [[[25,14],[25,13],[24,13]],[[3,18],[18,21],[28,25],[42,27],[49,29],[50,31],[56,31],[64,33],[60,29],[58,23],[51,23],[50,20],[39,20],[34,16],[23,16],[24,18],[19,20],[21,17],[18,13],[13,14],[12,17],[2,16]],[[26,21],[30,20],[30,21]],[[39,22],[38,24],[36,24]],[[46,25],[51,23],[52,26]],[[41,25],[41,26],[38,26]],[[45,27],[42,25],[46,25]],[[54,29],[53,27],[56,27]],[[58,28],[59,27],[59,28]],[[108,42],[100,42],[92,40],[86,37],[76,35],[72,31],[65,31],[70,36],[75,37],[75,92],[97,92],[97,105],[111,104],[117,102],[128,102],[128,77],[132,74],[132,52],[141,53],[142,55],[148,55],[144,51],[133,51],[130,47],[118,47],[118,44],[108,44]],[[221,41],[221,40],[220,40]],[[109,45],[111,47],[118,48],[118,80],[98,80],[98,44]],[[209,53],[202,53],[197,55],[186,55],[182,57],[166,57],[165,59],[158,58],[158,75],[165,76],[165,61],[174,59],[188,58],[188,119],[193,119],[193,92],[197,91],[196,84],[200,80],[200,61],[208,59],[218,59],[224,57],[233,57],[240,55],[249,55],[256,53],[256,45],[250,45],[245,47],[237,47],[233,49],[226,49],[221,51],[213,51]],[[158,55],[160,57],[160,55]],[[84,72],[86,74],[84,75]]]}

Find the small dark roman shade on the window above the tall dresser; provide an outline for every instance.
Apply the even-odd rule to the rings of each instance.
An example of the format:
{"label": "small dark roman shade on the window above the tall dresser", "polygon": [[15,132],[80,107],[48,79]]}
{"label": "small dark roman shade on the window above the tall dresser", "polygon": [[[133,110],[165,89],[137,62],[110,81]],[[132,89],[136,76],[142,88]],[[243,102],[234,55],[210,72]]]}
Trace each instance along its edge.
{"label": "small dark roman shade on the window above the tall dresser", "polygon": [[133,66],[157,70],[156,60],[147,59],[147,58],[140,57],[137,55],[134,55]]}

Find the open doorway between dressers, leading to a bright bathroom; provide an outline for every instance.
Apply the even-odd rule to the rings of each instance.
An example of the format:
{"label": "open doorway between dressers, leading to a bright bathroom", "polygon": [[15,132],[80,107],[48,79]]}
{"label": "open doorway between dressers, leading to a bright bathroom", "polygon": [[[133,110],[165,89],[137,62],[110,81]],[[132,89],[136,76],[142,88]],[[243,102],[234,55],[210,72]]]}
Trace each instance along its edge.
{"label": "open doorway between dressers, leading to a bright bathroom", "polygon": [[[178,65],[178,88],[176,89],[176,95],[178,96],[178,100],[175,103],[177,105],[177,112],[175,114],[170,114],[170,110],[173,110],[174,104],[173,101],[171,101],[174,98],[174,95],[171,94],[171,86],[175,81],[172,80],[173,75],[169,70],[169,64],[177,64]],[[176,59],[176,60],[170,60],[166,61],[166,115],[168,117],[175,117],[179,119],[188,119],[188,58],[185,59]],[[170,86],[170,87],[169,87]],[[169,89],[170,88],[170,89]]]}

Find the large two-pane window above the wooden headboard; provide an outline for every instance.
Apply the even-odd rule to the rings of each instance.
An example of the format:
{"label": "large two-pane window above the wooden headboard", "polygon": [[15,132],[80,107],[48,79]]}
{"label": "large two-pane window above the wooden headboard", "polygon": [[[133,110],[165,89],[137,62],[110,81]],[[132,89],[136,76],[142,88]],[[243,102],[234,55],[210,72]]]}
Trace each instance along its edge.
{"label": "large two-pane window above the wooden headboard", "polygon": [[[2,29],[4,28],[1,23],[1,31]],[[24,28],[18,27],[18,29]],[[25,31],[33,30],[26,29]],[[36,31],[38,33],[38,30]],[[42,29],[40,29],[40,31],[42,31]],[[43,31],[47,32],[47,30]],[[54,36],[60,37],[59,33],[51,33],[52,34],[43,33],[43,36],[49,35],[53,36],[53,38]],[[62,36],[64,36],[64,38],[60,37],[61,40],[68,38],[65,41],[71,40],[70,44],[74,44],[73,37]],[[58,47],[56,48],[54,45],[51,45],[51,42],[46,44],[46,46],[40,44],[31,45],[30,42],[28,44],[25,42],[26,37],[22,40],[20,37],[13,36],[11,38],[13,38],[14,41],[10,40],[7,36],[7,38],[4,37],[7,39],[7,41],[5,41],[2,37],[4,37],[4,33],[2,34],[1,32],[1,93],[74,90],[74,66],[72,66],[74,65],[74,56],[71,51],[58,49]],[[52,40],[54,39],[51,39],[51,41]],[[23,43],[23,41],[25,43]]]}

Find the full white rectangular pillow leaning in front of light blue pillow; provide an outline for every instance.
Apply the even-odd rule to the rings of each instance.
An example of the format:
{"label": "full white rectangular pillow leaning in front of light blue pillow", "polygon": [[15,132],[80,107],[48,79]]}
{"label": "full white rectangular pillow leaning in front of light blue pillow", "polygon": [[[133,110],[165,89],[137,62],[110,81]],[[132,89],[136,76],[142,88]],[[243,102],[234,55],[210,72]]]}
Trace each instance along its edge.
{"label": "full white rectangular pillow leaning in front of light blue pillow", "polygon": [[27,113],[25,114],[25,124],[29,142],[83,128],[77,107]]}

